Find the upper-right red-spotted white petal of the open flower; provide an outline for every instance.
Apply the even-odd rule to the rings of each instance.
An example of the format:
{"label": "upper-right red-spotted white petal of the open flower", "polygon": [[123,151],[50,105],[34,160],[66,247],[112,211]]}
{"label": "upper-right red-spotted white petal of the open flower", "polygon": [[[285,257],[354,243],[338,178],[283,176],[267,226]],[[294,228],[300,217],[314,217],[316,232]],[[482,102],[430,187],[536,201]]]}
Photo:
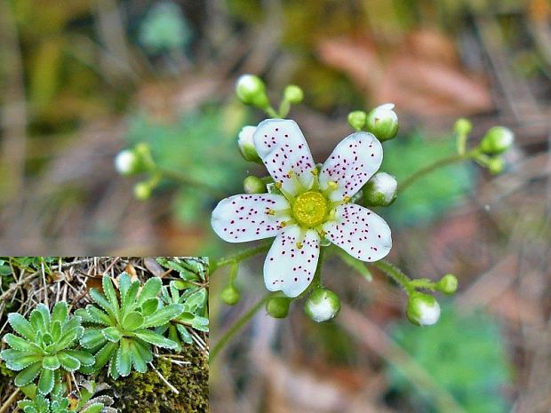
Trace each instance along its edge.
{"label": "upper-right red-spotted white petal of the open flower", "polygon": [[320,171],[320,186],[335,182],[337,189],[331,192],[331,201],[355,195],[371,176],[379,170],[383,161],[383,147],[368,132],[356,132],[342,139],[335,147]]}

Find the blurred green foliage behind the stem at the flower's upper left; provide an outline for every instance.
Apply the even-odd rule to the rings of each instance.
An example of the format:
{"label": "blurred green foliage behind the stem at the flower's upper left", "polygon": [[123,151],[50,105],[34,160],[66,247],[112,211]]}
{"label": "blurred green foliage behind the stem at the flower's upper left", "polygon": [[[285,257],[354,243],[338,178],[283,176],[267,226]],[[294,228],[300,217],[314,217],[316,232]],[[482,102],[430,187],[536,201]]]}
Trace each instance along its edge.
{"label": "blurred green foliage behind the stem at the flower's upper left", "polygon": [[[222,194],[243,192],[248,165],[236,145],[246,109],[230,104],[209,105],[161,123],[145,113],[129,117],[130,145],[147,142],[158,165],[166,171],[204,182]],[[171,185],[171,184],[168,184]],[[213,197],[197,187],[178,186],[173,210],[184,223],[197,225],[210,217]]]}

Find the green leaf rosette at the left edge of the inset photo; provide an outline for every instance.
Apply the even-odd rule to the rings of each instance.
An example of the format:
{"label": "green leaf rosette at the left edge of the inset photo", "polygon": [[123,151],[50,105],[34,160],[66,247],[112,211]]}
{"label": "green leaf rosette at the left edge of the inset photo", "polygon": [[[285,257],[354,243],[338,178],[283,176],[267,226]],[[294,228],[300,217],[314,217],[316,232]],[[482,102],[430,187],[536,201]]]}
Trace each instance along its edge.
{"label": "green leaf rosette at the left edge of the inset photo", "polygon": [[28,320],[18,313],[9,314],[8,322],[21,337],[4,335],[4,342],[11,348],[0,353],[0,357],[8,369],[20,371],[15,385],[28,385],[40,375],[37,390],[48,394],[61,372],[92,366],[92,354],[74,349],[84,334],[81,321],[79,316],[69,317],[65,301],[57,303],[52,314],[47,306],[39,304]]}

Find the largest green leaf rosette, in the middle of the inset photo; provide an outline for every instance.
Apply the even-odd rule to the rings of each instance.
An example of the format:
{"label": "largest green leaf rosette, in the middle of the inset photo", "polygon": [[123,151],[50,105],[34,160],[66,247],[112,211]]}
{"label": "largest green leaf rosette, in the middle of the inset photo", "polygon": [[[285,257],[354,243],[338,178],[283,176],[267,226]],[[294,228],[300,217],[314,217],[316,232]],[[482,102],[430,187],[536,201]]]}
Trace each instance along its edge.
{"label": "largest green leaf rosette, in the middle of the inset photo", "polygon": [[148,279],[140,290],[140,282],[132,282],[130,275],[123,273],[118,284],[117,296],[111,278],[104,274],[103,293],[90,290],[90,297],[100,307],[91,304],[76,311],[83,322],[97,326],[86,328],[80,338],[80,344],[94,353],[96,359],[84,372],[96,372],[109,362],[109,374],[115,379],[128,376],[132,366],[145,373],[148,362],[153,360],[151,345],[177,348],[174,341],[150,329],[170,322],[184,311],[180,304],[163,306],[157,298],[162,287],[158,277]]}

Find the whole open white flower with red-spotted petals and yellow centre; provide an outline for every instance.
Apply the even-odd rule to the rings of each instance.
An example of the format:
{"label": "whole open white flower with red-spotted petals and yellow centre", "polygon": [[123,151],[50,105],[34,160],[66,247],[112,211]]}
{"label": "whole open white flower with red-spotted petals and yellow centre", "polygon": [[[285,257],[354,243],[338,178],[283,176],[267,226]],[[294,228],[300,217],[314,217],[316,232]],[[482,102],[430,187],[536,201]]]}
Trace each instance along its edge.
{"label": "whole open white flower with red-spotted petals and yellow centre", "polygon": [[383,151],[371,133],[343,139],[318,169],[297,123],[268,119],[254,146],[282,195],[234,195],[212,211],[227,242],[275,237],[264,264],[270,291],[297,297],[314,277],[322,238],[355,258],[377,261],[392,247],[383,218],[350,200],[379,169]]}

